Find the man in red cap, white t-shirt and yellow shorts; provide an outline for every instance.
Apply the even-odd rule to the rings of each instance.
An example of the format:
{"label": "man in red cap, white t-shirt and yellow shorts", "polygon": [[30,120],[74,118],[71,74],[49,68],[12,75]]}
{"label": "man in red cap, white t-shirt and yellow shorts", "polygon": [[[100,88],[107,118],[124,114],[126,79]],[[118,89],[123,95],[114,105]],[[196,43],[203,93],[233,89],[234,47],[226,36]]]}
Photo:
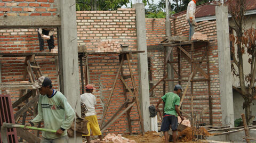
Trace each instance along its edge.
{"label": "man in red cap, white t-shirt and yellow shorts", "polygon": [[81,102],[86,105],[88,109],[85,113],[85,119],[87,122],[88,134],[85,135],[87,143],[90,143],[90,130],[92,130],[92,136],[99,136],[99,139],[102,140],[101,131],[95,111],[96,97],[92,94],[93,86],[85,86],[85,94],[81,95]]}

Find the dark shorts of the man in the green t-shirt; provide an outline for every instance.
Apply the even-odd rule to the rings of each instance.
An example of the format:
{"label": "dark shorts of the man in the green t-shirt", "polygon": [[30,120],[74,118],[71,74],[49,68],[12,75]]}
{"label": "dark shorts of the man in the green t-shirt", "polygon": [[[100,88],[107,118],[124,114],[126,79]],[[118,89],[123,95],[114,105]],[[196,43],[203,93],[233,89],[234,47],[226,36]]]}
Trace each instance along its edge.
{"label": "dark shorts of the man in the green t-shirt", "polygon": [[169,131],[169,129],[172,129],[172,131],[176,131],[178,128],[178,117],[174,115],[164,114],[163,122],[161,125],[161,131]]}

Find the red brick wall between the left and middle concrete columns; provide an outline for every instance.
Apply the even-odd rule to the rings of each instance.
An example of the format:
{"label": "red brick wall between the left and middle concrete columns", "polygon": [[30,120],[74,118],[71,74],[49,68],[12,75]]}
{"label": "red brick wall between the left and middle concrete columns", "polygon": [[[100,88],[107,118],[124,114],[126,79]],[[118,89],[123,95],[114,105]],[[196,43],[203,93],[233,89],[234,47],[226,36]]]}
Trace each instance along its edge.
{"label": "red brick wall between the left and middle concrete columns", "polygon": [[[117,11],[78,11],[77,12],[78,46],[85,46],[90,52],[117,52],[122,51],[120,44],[130,45],[130,50],[137,50],[137,31],[134,9],[118,9]],[[89,56],[89,83],[95,85],[93,94],[97,97],[96,111],[99,123],[103,114],[103,107],[107,103],[119,68],[118,55]],[[139,86],[137,54],[133,55],[132,71],[135,84]],[[129,74],[127,62],[123,66],[124,74]],[[132,83],[127,79],[127,85]],[[132,95],[128,94],[130,100]],[[123,85],[118,78],[105,117],[105,123],[124,103]],[[132,107],[131,119],[138,119],[136,106]],[[132,122],[132,131],[140,131],[139,122]],[[127,115],[122,115],[105,132],[129,132]]]}

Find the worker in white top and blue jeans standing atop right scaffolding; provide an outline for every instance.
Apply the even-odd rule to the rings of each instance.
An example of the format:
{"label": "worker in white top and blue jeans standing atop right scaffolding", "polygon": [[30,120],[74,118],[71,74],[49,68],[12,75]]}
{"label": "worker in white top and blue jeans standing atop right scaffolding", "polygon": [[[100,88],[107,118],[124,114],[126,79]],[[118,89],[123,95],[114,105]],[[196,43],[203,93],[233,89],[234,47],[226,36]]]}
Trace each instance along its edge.
{"label": "worker in white top and blue jeans standing atop right scaffolding", "polygon": [[191,40],[191,37],[194,35],[195,27],[196,27],[196,21],[195,21],[195,12],[196,12],[196,2],[199,0],[191,0],[188,3],[187,7],[187,15],[186,20],[189,24],[189,40]]}

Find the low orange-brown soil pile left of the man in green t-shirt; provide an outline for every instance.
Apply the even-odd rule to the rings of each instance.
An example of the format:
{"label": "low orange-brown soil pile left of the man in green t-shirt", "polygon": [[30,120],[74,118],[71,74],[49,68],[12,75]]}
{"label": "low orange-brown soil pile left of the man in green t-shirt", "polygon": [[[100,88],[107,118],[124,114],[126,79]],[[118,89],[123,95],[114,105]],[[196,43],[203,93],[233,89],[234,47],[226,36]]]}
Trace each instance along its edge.
{"label": "low orange-brown soil pile left of the man in green t-shirt", "polygon": [[160,133],[157,133],[155,131],[148,131],[145,132],[144,136],[141,134],[139,135],[130,135],[130,134],[124,134],[123,137],[131,140],[135,140],[137,143],[162,143],[164,142],[164,137],[159,136]]}

